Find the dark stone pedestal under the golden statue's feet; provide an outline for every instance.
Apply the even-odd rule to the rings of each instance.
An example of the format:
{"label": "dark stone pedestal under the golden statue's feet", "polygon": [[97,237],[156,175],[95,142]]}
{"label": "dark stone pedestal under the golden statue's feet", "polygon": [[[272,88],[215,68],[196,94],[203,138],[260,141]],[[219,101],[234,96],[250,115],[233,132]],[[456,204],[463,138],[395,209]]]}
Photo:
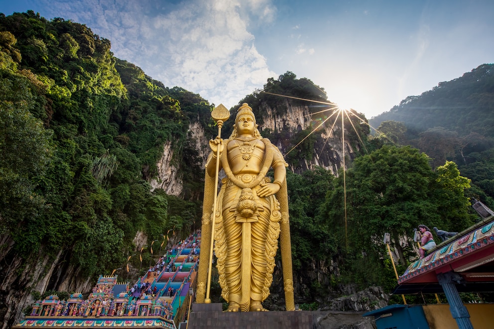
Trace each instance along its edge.
{"label": "dark stone pedestal under the golden statue's feet", "polygon": [[188,329],[313,328],[312,312],[222,312],[221,303],[192,304]]}

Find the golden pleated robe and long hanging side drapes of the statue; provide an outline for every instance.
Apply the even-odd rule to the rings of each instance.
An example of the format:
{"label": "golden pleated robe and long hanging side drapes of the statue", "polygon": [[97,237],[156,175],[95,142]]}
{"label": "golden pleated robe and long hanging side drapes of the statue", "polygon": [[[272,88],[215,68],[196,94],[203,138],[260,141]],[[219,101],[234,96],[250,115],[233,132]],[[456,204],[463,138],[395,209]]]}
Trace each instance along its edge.
{"label": "golden pleated robe and long hanging side drapes of the statue", "polygon": [[[220,157],[227,178],[222,180],[217,198],[214,227],[214,250],[218,258],[219,283],[222,297],[229,303],[238,303],[243,312],[249,310],[251,301],[264,301],[269,296],[269,287],[272,283],[274,257],[278,248],[277,240],[280,237],[281,224],[281,229],[284,230],[281,237],[282,242],[284,240],[281,251],[285,298],[287,310],[291,311],[294,310],[294,303],[286,180],[283,181],[282,188],[276,195],[259,198],[256,193],[261,184],[270,182],[270,179],[265,177],[268,169],[279,162],[284,164],[285,162],[276,146],[268,139],[263,138],[261,141],[265,145],[265,150],[262,169],[257,175],[234,175],[228,164],[227,152],[223,152]],[[228,140],[225,144],[228,144]],[[213,203],[209,189],[214,185],[213,182],[214,179],[206,174],[202,234],[207,232],[208,223],[211,223],[212,219],[210,209]],[[206,197],[208,195],[209,197]],[[279,202],[277,197],[281,198]],[[245,216],[242,208],[249,207],[252,213]],[[205,245],[201,243],[201,257],[203,247]],[[203,281],[206,275],[201,271],[201,266],[206,269],[206,264],[200,264],[199,267],[197,297],[199,303],[204,300]]]}

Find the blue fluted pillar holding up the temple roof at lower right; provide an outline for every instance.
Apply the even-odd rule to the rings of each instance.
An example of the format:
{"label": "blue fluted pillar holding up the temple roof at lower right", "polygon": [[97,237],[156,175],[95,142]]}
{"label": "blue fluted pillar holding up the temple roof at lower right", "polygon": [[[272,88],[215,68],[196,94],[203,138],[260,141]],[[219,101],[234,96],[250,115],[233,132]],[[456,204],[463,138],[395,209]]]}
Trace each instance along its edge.
{"label": "blue fluted pillar holding up the temple roof at lower right", "polygon": [[460,283],[461,275],[455,272],[441,273],[437,275],[437,280],[444,290],[446,299],[449,303],[449,309],[453,319],[459,329],[474,329],[470,322],[470,314],[467,308],[463,305],[458,290],[456,290],[455,282]]}

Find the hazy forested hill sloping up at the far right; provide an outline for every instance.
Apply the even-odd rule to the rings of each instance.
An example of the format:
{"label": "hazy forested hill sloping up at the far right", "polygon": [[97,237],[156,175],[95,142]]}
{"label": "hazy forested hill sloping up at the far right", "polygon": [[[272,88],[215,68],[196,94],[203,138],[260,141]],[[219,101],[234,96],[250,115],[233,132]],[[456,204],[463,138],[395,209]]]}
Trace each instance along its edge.
{"label": "hazy forested hill sloping up at the far right", "polygon": [[369,120],[381,140],[412,145],[434,167],[454,161],[477,199],[494,209],[494,64],[441,82]]}

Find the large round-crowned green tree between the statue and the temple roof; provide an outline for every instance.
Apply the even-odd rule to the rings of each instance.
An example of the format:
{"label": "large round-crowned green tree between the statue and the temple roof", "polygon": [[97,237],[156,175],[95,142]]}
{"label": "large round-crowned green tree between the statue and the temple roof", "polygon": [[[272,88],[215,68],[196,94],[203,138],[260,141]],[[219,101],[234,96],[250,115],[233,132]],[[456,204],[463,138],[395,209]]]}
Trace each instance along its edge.
{"label": "large round-crowned green tree between the statue and the temple roof", "polygon": [[[388,232],[405,264],[399,237],[409,234],[435,210],[427,198],[431,175],[427,156],[410,147],[386,145],[357,158],[346,173],[346,205],[342,174],[328,198],[331,205],[338,205],[330,210],[331,223],[346,227],[346,232],[339,229],[340,236],[348,239],[343,244],[365,250]],[[342,216],[345,207],[346,219]]]}

